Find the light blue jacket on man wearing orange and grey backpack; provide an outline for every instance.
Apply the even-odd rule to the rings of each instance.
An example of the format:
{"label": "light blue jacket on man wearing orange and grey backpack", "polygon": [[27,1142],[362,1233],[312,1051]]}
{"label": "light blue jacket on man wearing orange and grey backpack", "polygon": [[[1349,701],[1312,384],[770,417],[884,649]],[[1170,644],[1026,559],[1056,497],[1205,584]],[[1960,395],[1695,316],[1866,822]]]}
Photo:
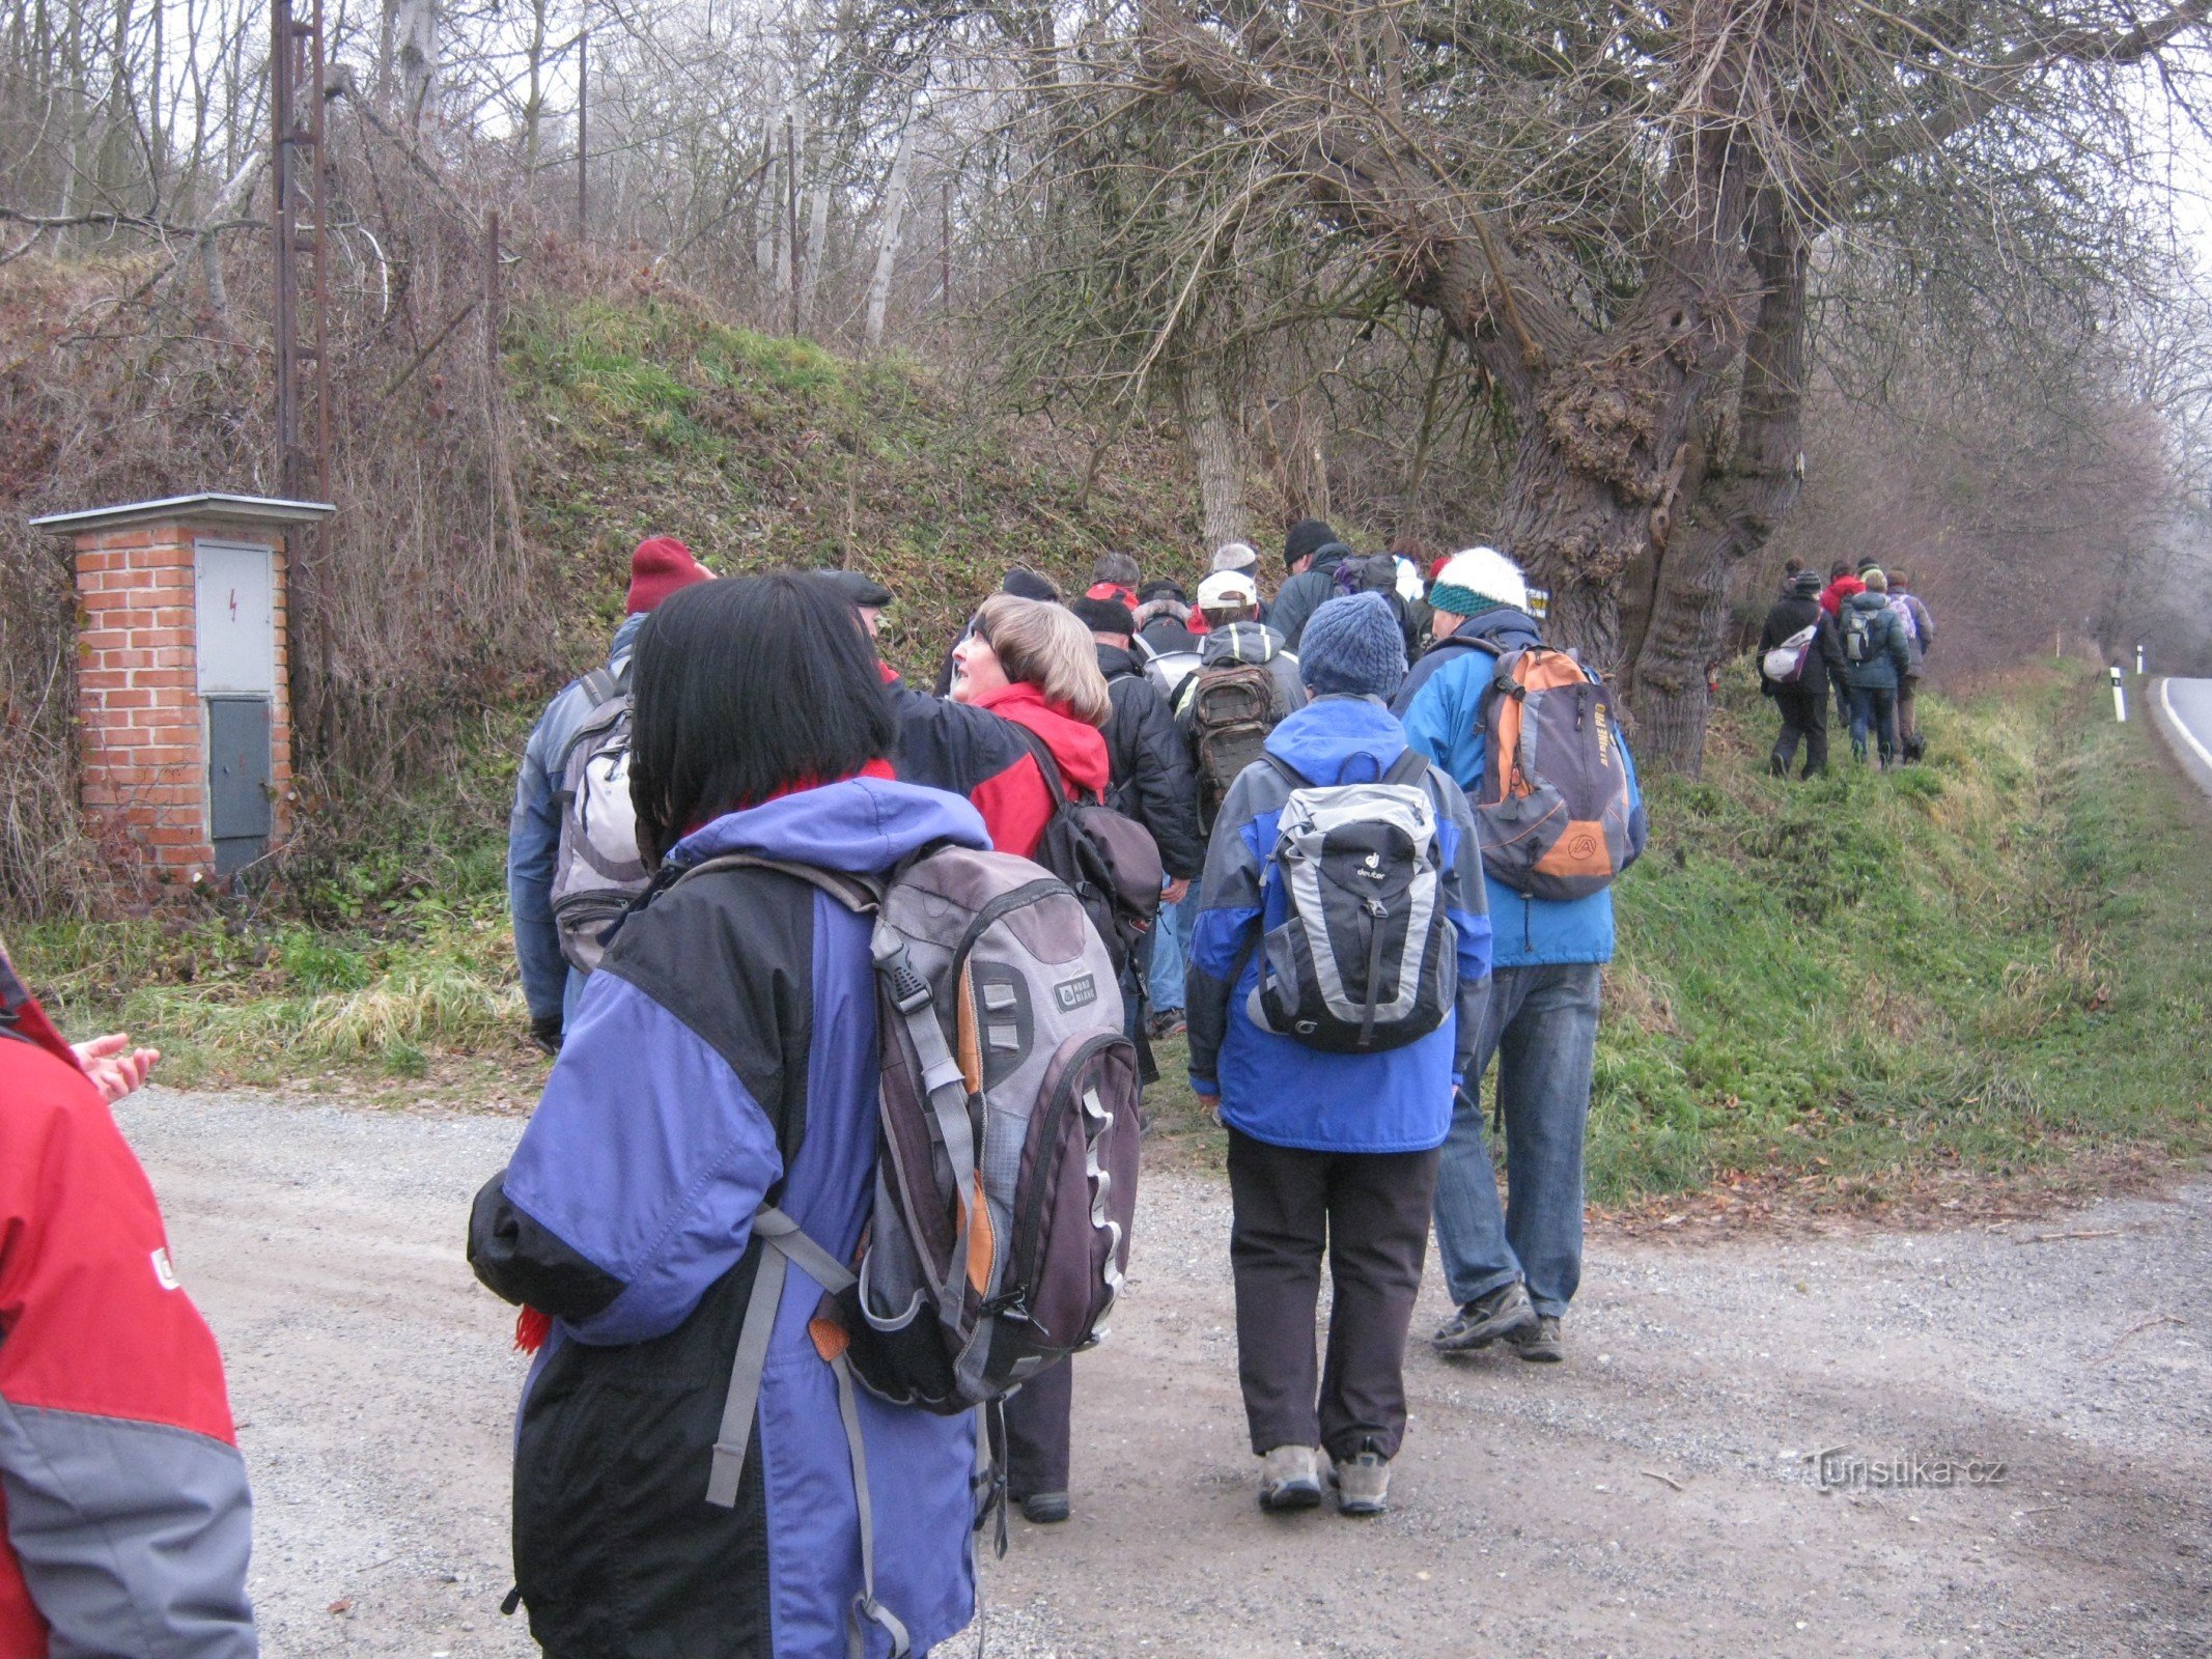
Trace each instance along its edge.
{"label": "light blue jacket on man wearing orange and grey backpack", "polygon": [[[1535,617],[1524,611],[1484,611],[1460,624],[1460,633],[1489,639],[1500,650],[1522,650],[1542,644]],[[1455,633],[1453,639],[1460,635]],[[1433,666],[1431,666],[1433,664]],[[1422,672],[1425,670],[1425,672]],[[1478,648],[1429,650],[1416,672],[1422,679],[1405,708],[1405,741],[1444,768],[1462,790],[1482,783],[1489,743],[1475,719],[1482,692],[1498,672],[1498,659]],[[1637,785],[1637,763],[1621,739],[1621,761],[1628,765],[1632,812],[1644,812]],[[1522,898],[1504,883],[1484,874],[1491,894],[1491,929],[1498,967],[1546,967],[1553,962],[1613,960],[1613,889],[1588,898]]]}

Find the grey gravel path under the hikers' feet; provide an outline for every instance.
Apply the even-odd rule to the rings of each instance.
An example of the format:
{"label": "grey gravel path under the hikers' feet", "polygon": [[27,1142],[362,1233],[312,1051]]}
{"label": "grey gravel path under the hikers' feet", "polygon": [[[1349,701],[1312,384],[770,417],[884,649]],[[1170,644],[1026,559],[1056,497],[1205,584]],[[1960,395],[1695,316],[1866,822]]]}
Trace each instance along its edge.
{"label": "grey gravel path under the hikers' feet", "polygon": [[[119,1117],[230,1360],[265,1652],[533,1652],[495,1608],[522,1363],[460,1256],[520,1119]],[[2212,1655],[2212,1183],[1951,1234],[1595,1239],[1564,1367],[1413,1354],[1365,1524],[1254,1509],[1225,1259],[1225,1188],[1148,1172],[1079,1363],[1075,1520],[989,1566],[991,1655]],[[1442,1312],[1431,1283],[1420,1329]],[[2004,1482],[1823,1493],[1827,1447]]]}

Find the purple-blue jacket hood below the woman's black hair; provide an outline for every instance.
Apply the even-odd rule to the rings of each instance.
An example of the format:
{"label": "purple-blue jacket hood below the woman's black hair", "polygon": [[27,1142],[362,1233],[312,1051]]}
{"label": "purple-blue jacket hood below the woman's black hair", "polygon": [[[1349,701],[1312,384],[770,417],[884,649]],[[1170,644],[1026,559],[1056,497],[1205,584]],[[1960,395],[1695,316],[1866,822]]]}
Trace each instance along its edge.
{"label": "purple-blue jacket hood below the woman's black hair", "polygon": [[958,794],[889,779],[845,779],[726,812],[684,836],[668,858],[692,865],[750,852],[867,876],[889,869],[931,841],[978,849],[991,845],[982,814]]}

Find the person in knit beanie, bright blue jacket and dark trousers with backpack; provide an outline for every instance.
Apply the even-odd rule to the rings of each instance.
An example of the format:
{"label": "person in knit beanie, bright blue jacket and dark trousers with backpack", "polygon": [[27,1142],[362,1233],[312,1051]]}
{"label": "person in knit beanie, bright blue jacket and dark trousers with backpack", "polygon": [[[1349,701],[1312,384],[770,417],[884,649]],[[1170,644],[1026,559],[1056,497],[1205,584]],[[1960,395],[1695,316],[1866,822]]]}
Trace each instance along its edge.
{"label": "person in knit beanie, bright blue jacket and dark trousers with backpack", "polygon": [[[1208,847],[1190,1086],[1230,1133],[1259,1502],[1318,1504],[1318,1447],[1338,1509],[1378,1515],[1405,1438],[1436,1148],[1482,1024],[1489,920],[1467,799],[1383,701],[1405,675],[1383,595],[1321,606],[1298,668],[1314,701],[1267,734]],[[1316,1376],[1323,1254],[1334,1301]]]}

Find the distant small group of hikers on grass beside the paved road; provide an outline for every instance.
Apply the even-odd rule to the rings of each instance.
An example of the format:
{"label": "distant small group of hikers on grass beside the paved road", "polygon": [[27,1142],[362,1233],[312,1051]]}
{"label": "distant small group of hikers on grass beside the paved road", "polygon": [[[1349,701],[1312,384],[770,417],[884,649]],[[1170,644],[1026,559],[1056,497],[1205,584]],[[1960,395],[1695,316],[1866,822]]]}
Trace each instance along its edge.
{"label": "distant small group of hikers on grass beside the paved road", "polygon": [[1836,560],[1827,586],[1798,560],[1783,568],[1783,591],[1759,630],[1759,688],[1781,710],[1783,730],[1774,739],[1770,768],[1790,776],[1798,741],[1805,743],[1801,779],[1827,770],[1827,699],[1834,688],[1836,719],[1851,732],[1851,754],[1887,770],[1920,761],[1918,692],[1929,653],[1936,648],[1936,617],[1913,595],[1905,571],[1885,571],[1876,560]]}

